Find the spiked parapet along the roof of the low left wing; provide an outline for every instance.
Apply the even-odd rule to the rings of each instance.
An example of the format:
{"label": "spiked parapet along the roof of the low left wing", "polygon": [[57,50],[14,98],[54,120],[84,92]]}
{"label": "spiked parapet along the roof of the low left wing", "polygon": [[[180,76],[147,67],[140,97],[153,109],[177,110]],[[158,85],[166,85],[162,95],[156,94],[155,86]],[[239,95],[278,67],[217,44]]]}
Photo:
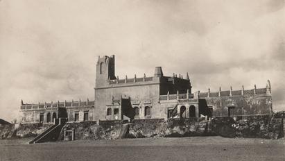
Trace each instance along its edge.
{"label": "spiked parapet along the roof of the low left wing", "polygon": [[87,105],[94,105],[94,101],[64,101],[64,102],[53,102],[51,101],[50,103],[23,103],[21,101],[21,110],[40,110],[40,109],[46,109],[46,108],[71,108],[71,107],[80,107],[80,106],[87,106]]}

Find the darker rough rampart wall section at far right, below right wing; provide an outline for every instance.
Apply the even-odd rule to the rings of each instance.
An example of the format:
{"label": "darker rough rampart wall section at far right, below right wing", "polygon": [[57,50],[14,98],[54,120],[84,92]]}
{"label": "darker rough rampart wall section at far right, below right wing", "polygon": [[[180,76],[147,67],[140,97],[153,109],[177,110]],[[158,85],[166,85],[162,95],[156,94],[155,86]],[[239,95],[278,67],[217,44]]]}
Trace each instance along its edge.
{"label": "darker rough rampart wall section at far right, below right wing", "polygon": [[216,117],[209,129],[223,137],[257,137],[277,139],[284,137],[283,120],[270,116],[252,116],[247,119]]}

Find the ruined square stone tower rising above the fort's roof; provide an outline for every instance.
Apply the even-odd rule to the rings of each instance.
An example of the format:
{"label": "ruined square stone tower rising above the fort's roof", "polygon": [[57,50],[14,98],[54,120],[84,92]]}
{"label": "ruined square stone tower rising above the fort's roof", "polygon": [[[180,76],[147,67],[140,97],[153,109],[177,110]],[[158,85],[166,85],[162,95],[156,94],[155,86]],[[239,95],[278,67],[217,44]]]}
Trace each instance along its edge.
{"label": "ruined square stone tower rising above the fort's roof", "polygon": [[95,87],[108,85],[108,80],[116,79],[115,76],[115,56],[98,57],[96,64]]}

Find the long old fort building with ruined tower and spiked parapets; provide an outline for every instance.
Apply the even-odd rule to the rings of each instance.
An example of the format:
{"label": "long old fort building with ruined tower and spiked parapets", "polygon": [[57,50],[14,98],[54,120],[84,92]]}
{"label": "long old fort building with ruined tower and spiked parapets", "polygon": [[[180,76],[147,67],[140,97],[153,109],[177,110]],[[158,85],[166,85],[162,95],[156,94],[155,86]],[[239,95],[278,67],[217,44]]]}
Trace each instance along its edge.
{"label": "long old fort building with ruined tower and spiked parapets", "polygon": [[155,67],[153,76],[115,76],[115,57],[103,56],[96,62],[94,101],[23,103],[22,123],[49,124],[55,118],[68,121],[125,119],[168,119],[272,115],[270,81],[266,87],[251,90],[192,92],[189,75],[164,76]]}

